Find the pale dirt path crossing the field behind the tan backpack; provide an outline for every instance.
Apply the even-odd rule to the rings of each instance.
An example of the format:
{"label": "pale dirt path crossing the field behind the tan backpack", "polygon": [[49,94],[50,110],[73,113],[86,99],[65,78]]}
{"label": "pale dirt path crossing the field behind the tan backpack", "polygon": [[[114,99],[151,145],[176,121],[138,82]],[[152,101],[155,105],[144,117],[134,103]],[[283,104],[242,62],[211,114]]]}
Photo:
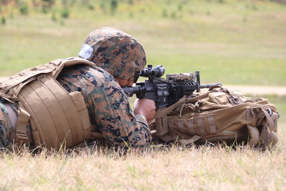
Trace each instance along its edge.
{"label": "pale dirt path crossing the field behind the tan backpack", "polygon": [[[0,80],[7,78],[5,76],[0,76]],[[231,90],[238,90],[243,95],[244,94],[257,94],[258,96],[276,94],[278,96],[286,95],[286,86],[243,86],[243,85],[224,85],[224,87]],[[201,89],[201,91],[206,91],[207,89]]]}

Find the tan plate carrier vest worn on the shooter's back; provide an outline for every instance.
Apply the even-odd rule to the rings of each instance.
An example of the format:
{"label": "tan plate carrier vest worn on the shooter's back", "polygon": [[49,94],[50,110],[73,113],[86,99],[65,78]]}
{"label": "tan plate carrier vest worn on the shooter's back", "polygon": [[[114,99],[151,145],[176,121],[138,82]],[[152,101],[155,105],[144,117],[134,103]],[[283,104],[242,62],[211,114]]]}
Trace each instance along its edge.
{"label": "tan plate carrier vest worn on the shooter's back", "polygon": [[68,93],[55,80],[63,68],[75,64],[96,66],[83,58],[64,58],[0,80],[0,97],[19,107],[16,137],[10,142],[18,148],[26,143],[28,122],[38,148],[58,150],[90,138],[90,119],[82,94]]}

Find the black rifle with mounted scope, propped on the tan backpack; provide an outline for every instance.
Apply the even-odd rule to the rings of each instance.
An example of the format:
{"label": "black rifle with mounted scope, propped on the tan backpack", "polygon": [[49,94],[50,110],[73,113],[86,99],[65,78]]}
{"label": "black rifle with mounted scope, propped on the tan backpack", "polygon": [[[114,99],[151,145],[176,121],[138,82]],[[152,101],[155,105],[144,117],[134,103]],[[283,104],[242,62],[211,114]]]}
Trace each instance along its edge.
{"label": "black rifle with mounted scope, propped on the tan backpack", "polygon": [[180,73],[180,74],[167,74],[166,79],[161,78],[165,73],[165,68],[158,65],[152,68],[148,65],[143,71],[139,72],[140,76],[148,77],[145,82],[138,82],[136,86],[122,86],[122,89],[129,93],[129,97],[136,94],[137,98],[151,99],[156,103],[156,109],[169,107],[168,99],[176,85],[184,88],[184,94],[192,94],[193,92],[200,92],[201,88],[209,88],[210,86],[219,85],[214,84],[200,84],[200,72],[196,71],[194,74]]}

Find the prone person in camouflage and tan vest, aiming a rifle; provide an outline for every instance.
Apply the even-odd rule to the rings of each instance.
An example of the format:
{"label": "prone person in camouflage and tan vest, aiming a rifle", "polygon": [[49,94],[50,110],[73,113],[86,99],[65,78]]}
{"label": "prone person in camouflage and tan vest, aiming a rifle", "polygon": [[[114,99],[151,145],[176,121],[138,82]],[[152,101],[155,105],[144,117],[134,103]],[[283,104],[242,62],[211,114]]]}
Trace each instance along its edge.
{"label": "prone person in camouflage and tan vest, aiming a rifle", "polygon": [[[37,93],[40,95],[42,91],[38,92],[37,88],[35,88],[36,93],[32,92],[30,93],[31,95],[27,95],[27,98],[25,98],[26,101],[19,99],[19,97],[25,94],[25,88],[19,88],[21,84],[38,83],[37,81],[48,84],[47,82],[50,78],[45,74],[41,76],[37,74],[35,77],[29,78],[29,80],[33,80],[30,80],[31,82],[29,83],[27,83],[27,79],[21,80],[21,77],[27,76],[31,71],[47,70],[35,67],[37,69],[29,69],[28,72],[21,71],[9,79],[0,81],[1,149],[7,148],[11,150],[14,145],[21,148],[23,144],[25,144],[31,150],[43,147],[45,142],[49,143],[46,146],[49,149],[58,149],[54,147],[58,147],[62,141],[70,142],[68,147],[73,147],[81,142],[92,140],[101,140],[106,146],[120,148],[131,147],[143,150],[150,147],[151,133],[148,127],[148,121],[154,117],[156,109],[155,103],[149,99],[137,99],[134,103],[134,111],[132,111],[128,102],[128,93],[124,92],[120,87],[131,86],[136,82],[134,79],[138,79],[136,77],[134,78],[136,71],[142,71],[144,69],[146,65],[146,55],[142,44],[138,42],[136,38],[123,31],[103,27],[88,35],[79,52],[79,57],[80,58],[55,60],[54,62],[48,63],[49,65],[47,65],[46,68],[53,69],[51,70],[52,72],[47,73],[47,75],[49,74],[56,79],[55,82],[52,83],[55,84],[55,87],[59,84],[68,94],[80,92],[82,97],[71,96],[73,99],[72,103],[74,103],[77,108],[75,100],[83,98],[87,110],[84,112],[88,115],[90,122],[90,124],[88,123],[87,125],[88,127],[86,128],[82,117],[75,114],[76,118],[78,118],[82,124],[82,129],[76,129],[78,127],[71,125],[76,119],[68,117],[68,112],[65,111],[62,101],[59,101],[59,104],[52,103],[49,105],[47,104],[49,102],[46,101],[49,99],[49,96],[44,98],[40,96],[45,105],[39,104],[36,108],[40,108],[40,111],[36,112],[35,109],[33,109],[36,99],[34,101],[29,100],[31,96],[33,96],[32,94]],[[77,61],[77,64],[69,67],[60,64],[67,60],[80,61]],[[61,66],[62,68],[57,70],[58,73],[55,73],[54,71],[56,71],[55,68],[57,68],[57,66]],[[13,85],[11,85],[15,79],[16,81],[20,81],[18,85],[19,89],[17,90],[13,90]],[[30,86],[33,88],[32,85]],[[57,95],[56,89],[58,88],[54,89],[56,92],[54,93],[55,95]],[[19,95],[17,95],[18,92],[20,92]],[[23,97],[25,97],[25,95]],[[23,102],[25,106],[21,106],[22,109],[20,109],[20,102]],[[60,113],[50,109],[51,107],[57,108],[57,105],[61,105],[61,108],[65,111],[67,124],[70,126],[68,130],[64,130],[65,127],[59,124],[61,120],[63,121],[62,117],[58,117]],[[69,105],[70,104],[67,104],[66,107],[69,107]],[[43,114],[44,109],[42,109],[43,111],[40,115],[43,119],[37,117],[39,113],[41,113],[42,106],[43,108],[47,107],[51,120],[47,117],[45,119],[45,114]],[[20,116],[25,116],[25,113],[28,113],[27,116],[29,117],[26,117],[26,120],[22,120]],[[54,117],[55,115],[57,117]],[[86,117],[87,116],[84,116],[83,118]],[[43,123],[43,121],[45,121],[45,123]],[[51,121],[53,121],[52,125],[47,125],[51,124]],[[20,122],[21,125],[19,125]],[[54,128],[51,126],[54,126]],[[56,133],[53,132],[54,129],[56,129]],[[88,133],[82,136],[83,133],[80,133],[81,131]],[[70,136],[68,136],[69,134]],[[73,140],[70,141],[69,139]],[[53,142],[57,142],[57,144]]]}

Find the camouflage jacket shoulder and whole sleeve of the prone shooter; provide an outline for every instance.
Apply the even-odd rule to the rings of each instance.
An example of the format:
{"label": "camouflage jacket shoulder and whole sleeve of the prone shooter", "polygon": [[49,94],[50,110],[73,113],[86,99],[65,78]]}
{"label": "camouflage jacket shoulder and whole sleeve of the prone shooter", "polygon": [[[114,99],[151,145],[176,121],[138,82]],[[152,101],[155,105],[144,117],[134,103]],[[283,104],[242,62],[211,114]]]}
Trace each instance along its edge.
{"label": "camouflage jacket shoulder and whole sleeve of the prone shooter", "polygon": [[101,133],[109,145],[139,149],[150,146],[148,123],[143,116],[134,116],[128,96],[106,71],[90,66],[69,67],[57,80],[67,91],[82,93],[92,131]]}

